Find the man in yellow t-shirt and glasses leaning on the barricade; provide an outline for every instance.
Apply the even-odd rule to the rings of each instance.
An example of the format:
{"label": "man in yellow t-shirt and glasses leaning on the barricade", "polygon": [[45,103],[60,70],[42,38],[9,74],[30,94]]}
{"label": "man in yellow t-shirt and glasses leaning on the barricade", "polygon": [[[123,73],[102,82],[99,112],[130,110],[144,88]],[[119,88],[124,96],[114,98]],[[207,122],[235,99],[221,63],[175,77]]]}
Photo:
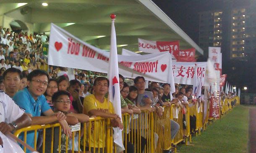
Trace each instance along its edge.
{"label": "man in yellow t-shirt and glasses leaning on the barricade", "polygon": [[[110,118],[111,125],[113,127],[119,127],[120,129],[123,129],[121,119],[118,114],[115,114],[112,103],[104,97],[108,91],[108,87],[109,80],[107,78],[98,77],[94,80],[94,94],[84,98],[83,113],[89,116],[102,117],[105,119]],[[89,148],[90,151],[94,150],[93,147],[95,147],[96,152],[98,152],[98,148],[102,152],[102,149],[106,146],[105,138],[107,126],[108,125],[106,122],[104,124],[102,120],[92,122],[91,129],[89,131],[91,135],[89,135],[89,133],[86,135],[86,137],[89,137],[86,139],[86,147]]]}

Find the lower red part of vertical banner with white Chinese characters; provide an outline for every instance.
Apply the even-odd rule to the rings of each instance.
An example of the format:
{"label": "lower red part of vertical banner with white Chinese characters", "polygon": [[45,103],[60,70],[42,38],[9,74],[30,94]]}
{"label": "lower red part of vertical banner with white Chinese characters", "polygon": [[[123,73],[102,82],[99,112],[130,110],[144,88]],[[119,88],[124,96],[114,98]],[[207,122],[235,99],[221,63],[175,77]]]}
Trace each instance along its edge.
{"label": "lower red part of vertical banner with white Chinese characters", "polygon": [[[219,71],[216,70],[217,80],[219,80]],[[212,95],[210,99],[209,117],[219,118],[220,113],[220,86],[219,81],[212,83]]]}

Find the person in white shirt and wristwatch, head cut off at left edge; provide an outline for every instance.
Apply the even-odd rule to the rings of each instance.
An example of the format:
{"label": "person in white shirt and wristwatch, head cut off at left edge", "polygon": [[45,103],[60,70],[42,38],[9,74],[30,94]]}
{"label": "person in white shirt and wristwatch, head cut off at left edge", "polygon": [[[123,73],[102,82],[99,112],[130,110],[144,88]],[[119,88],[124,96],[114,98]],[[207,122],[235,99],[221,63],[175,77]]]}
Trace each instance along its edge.
{"label": "person in white shirt and wristwatch, head cut off at left edge", "polygon": [[[31,118],[5,92],[0,91],[0,131],[3,134],[31,125]],[[3,142],[0,137],[0,142]],[[1,144],[3,145],[3,144]]]}

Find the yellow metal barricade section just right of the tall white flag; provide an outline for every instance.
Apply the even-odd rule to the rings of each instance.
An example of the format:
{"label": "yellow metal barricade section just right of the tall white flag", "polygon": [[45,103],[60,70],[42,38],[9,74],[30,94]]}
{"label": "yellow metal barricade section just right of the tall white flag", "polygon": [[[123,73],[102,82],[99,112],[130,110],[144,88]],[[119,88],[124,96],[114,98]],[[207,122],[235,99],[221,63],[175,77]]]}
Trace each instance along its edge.
{"label": "yellow metal barricade section just right of the tall white flag", "polygon": [[[154,153],[155,145],[154,142],[157,142],[157,134],[154,133],[154,114],[149,113],[148,111],[143,111],[141,114],[123,114],[123,142],[125,150],[124,153],[127,153],[128,150],[131,150],[129,147],[134,148],[136,153]],[[131,146],[132,145],[132,146]],[[115,147],[116,148],[116,147]],[[118,153],[114,149],[114,153]]]}

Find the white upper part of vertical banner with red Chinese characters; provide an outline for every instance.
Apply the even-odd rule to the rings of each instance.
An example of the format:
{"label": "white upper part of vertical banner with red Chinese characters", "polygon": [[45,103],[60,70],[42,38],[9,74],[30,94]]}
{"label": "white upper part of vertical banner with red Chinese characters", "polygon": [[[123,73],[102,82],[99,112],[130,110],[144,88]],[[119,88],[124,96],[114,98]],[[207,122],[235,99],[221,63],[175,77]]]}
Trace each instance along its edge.
{"label": "white upper part of vertical banner with red Chinese characters", "polygon": [[214,63],[215,70],[220,71],[222,74],[222,53],[220,47],[209,47],[209,58]]}

